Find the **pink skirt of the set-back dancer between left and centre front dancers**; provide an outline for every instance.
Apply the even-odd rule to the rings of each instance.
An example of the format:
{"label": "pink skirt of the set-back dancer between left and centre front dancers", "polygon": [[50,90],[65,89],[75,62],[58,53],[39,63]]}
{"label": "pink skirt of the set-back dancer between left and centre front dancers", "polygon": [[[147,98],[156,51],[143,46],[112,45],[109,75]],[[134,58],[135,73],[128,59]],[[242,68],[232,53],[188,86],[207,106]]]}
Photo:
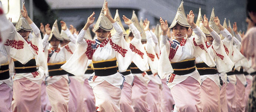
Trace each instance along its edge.
{"label": "pink skirt of the set-back dancer between left and centre front dancers", "polygon": [[54,112],[68,112],[68,100],[70,91],[68,81],[62,77],[57,82],[46,87],[46,92]]}

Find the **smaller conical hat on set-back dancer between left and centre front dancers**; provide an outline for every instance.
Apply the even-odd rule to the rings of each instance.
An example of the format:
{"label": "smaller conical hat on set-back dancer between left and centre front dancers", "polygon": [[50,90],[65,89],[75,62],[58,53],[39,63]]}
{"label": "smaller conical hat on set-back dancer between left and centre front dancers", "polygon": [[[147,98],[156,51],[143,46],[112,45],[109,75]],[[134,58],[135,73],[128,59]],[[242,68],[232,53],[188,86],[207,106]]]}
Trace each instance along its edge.
{"label": "smaller conical hat on set-back dancer between left and centre front dancers", "polygon": [[54,24],[53,24],[53,28],[51,29],[51,33],[49,36],[48,41],[51,40],[51,38],[54,36],[56,39],[58,40],[63,40],[63,37],[60,35],[60,31],[58,29],[58,24],[57,24],[57,20],[55,20]]}

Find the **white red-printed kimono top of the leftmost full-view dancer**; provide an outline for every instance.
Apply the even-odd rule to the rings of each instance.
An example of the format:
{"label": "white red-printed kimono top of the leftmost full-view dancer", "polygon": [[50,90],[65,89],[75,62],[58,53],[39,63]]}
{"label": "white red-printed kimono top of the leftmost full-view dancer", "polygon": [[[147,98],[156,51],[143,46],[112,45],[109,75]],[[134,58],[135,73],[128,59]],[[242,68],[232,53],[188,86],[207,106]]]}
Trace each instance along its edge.
{"label": "white red-printed kimono top of the leftmost full-view dancer", "polygon": [[[7,39],[4,45],[6,47],[7,54],[11,57],[9,58],[10,73],[14,73],[13,59],[18,60],[21,62],[21,64],[26,64],[32,58],[35,58],[36,66],[39,67],[37,72],[16,73],[14,76],[12,76],[13,80],[26,77],[31,82],[41,85],[43,71],[46,69],[43,44],[40,30],[34,23],[30,24],[30,26],[33,29],[33,35],[29,36],[28,40],[24,40],[20,34],[16,32],[16,29],[13,26],[13,29],[9,30],[9,34],[12,35],[12,37]],[[17,43],[15,41],[17,41]]]}

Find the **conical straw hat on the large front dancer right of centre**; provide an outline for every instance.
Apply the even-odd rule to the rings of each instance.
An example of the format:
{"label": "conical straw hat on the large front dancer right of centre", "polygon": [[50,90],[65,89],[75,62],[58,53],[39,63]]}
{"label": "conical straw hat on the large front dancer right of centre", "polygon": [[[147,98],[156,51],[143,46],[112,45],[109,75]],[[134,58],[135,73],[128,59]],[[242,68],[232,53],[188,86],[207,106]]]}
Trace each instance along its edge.
{"label": "conical straw hat on the large front dancer right of centre", "polygon": [[187,22],[186,14],[184,11],[183,1],[181,1],[181,5],[178,7],[178,11],[177,11],[175,18],[172,21],[172,24],[169,28],[173,28],[177,23],[181,26],[190,27]]}

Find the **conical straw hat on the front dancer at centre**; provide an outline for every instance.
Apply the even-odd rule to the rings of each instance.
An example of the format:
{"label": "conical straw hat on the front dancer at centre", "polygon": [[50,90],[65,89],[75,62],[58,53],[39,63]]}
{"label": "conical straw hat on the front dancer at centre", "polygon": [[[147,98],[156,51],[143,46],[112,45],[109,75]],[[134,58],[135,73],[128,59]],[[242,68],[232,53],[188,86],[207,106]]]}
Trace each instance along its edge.
{"label": "conical straw hat on the front dancer at centre", "polygon": [[[111,31],[113,29],[113,25],[112,23],[110,22],[110,20],[104,15],[104,8],[105,8],[105,4],[106,4],[106,0],[104,0],[104,4],[102,6],[102,9],[101,9],[101,13],[100,13],[100,16],[94,26],[94,31],[98,30],[99,28],[103,29],[103,30],[106,30],[106,31]],[[109,11],[110,13],[110,11]],[[111,15],[111,13],[110,13]],[[111,15],[112,17],[112,15]]]}

